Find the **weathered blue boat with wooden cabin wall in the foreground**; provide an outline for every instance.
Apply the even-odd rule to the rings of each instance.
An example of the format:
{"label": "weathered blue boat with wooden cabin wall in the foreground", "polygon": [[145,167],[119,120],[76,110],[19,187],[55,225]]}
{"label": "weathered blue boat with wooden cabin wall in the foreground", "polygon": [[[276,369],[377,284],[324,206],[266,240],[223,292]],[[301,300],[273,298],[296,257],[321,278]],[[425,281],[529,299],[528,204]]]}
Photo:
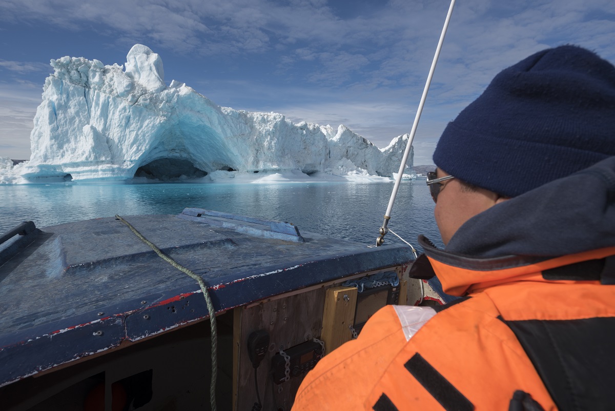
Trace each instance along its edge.
{"label": "weathered blue boat with wooden cabin wall in the foreground", "polygon": [[407,245],[213,210],[25,221],[0,243],[3,410],[290,410],[379,308],[443,302]]}

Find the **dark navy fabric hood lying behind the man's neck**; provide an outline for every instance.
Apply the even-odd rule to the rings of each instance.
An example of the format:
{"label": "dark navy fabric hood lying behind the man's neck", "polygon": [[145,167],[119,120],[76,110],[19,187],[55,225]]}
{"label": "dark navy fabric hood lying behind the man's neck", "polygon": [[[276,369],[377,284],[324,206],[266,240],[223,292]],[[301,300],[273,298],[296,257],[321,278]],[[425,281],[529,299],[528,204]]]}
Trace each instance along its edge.
{"label": "dark navy fabric hood lying behind the man's neck", "polygon": [[554,258],[615,245],[615,156],[475,215],[446,251]]}

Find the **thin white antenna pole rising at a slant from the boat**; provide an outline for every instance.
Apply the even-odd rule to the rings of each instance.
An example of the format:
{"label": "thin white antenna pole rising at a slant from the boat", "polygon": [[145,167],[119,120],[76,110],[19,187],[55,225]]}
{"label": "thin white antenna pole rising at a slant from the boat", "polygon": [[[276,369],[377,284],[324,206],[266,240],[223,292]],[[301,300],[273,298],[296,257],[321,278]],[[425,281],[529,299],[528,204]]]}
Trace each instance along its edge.
{"label": "thin white antenna pole rising at a slant from the boat", "polygon": [[395,197],[397,196],[397,190],[399,190],[399,183],[402,181],[403,171],[406,168],[406,163],[408,161],[408,155],[410,154],[410,148],[412,146],[412,142],[415,139],[416,127],[418,127],[419,119],[421,119],[421,113],[423,113],[423,106],[425,105],[425,100],[427,99],[427,92],[429,91],[429,86],[431,85],[431,79],[434,76],[435,65],[438,62],[438,57],[440,57],[440,49],[442,49],[442,44],[444,42],[444,36],[446,35],[446,30],[448,29],[448,22],[451,20],[451,15],[453,14],[453,7],[455,5],[455,0],[451,0],[451,5],[448,7],[448,14],[446,14],[446,20],[444,22],[444,27],[442,28],[442,34],[440,34],[440,41],[438,41],[438,47],[435,49],[434,61],[431,63],[431,68],[429,69],[429,75],[427,76],[427,82],[425,83],[425,88],[423,89],[423,96],[421,97],[421,103],[419,103],[419,108],[416,110],[415,122],[412,125],[412,130],[410,132],[410,138],[408,138],[408,144],[406,145],[406,150],[403,152],[402,164],[399,166],[399,174],[397,174],[397,178],[395,179],[395,185],[393,186],[393,192],[391,193],[391,199],[389,199],[389,206],[386,209],[386,213],[384,214],[384,222],[383,226],[380,228],[379,233],[380,236],[376,239],[376,245],[382,245],[384,242],[384,235],[388,232],[386,228],[389,220],[391,219],[391,210],[393,209],[393,203],[395,202]]}

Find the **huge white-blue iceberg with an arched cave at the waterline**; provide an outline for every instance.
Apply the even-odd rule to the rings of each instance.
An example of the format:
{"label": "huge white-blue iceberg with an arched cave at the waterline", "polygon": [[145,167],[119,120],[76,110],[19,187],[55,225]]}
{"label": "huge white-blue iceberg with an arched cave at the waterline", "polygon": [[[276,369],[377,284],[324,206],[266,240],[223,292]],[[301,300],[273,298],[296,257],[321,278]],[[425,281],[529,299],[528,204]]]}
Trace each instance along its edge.
{"label": "huge white-blue iceberg with an arched cave at the waterline", "polygon": [[136,44],[126,58],[124,66],[51,60],[55,73],[34,118],[31,159],[12,170],[0,164],[0,183],[213,177],[220,170],[391,177],[399,170],[408,135],[379,150],[345,126],[221,107],[185,83],[167,86],[149,47]]}

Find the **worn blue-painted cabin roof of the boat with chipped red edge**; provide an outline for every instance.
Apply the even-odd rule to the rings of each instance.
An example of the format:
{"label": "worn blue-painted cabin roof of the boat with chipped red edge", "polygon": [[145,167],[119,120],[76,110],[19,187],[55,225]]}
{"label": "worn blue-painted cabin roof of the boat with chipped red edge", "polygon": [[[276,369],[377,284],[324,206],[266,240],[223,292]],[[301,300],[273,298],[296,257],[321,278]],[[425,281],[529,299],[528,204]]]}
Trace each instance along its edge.
{"label": "worn blue-painted cabin roof of the boat with chipped red edge", "polygon": [[[401,245],[315,233],[284,241],[173,215],[124,218],[204,279],[216,312],[412,260]],[[196,281],[121,221],[43,228],[0,266],[0,386],[207,314]]]}

